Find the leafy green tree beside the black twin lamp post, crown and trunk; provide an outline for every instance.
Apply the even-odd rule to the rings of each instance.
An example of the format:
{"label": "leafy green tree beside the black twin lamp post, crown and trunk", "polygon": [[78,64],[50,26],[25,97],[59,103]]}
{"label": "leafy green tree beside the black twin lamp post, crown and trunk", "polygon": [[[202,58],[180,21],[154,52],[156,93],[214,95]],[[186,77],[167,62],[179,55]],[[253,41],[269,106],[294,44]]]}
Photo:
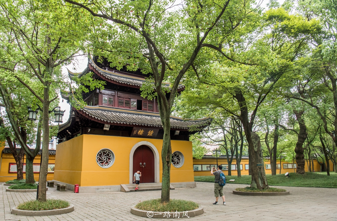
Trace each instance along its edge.
{"label": "leafy green tree beside the black twin lamp post, crown and trunk", "polygon": [[[9,41],[1,41],[4,54],[1,78],[6,82],[15,80],[24,85],[36,98],[37,108],[42,108],[42,161],[39,176],[40,201],[46,200],[46,182],[49,160],[49,111],[57,100],[58,93],[65,88],[65,78],[60,65],[68,63],[82,50],[91,33],[91,19],[87,12],[59,1],[0,1],[1,31]],[[88,22],[89,21],[89,22]],[[0,84],[6,112],[13,132],[21,147],[33,157],[18,125],[11,115],[10,96]]]}

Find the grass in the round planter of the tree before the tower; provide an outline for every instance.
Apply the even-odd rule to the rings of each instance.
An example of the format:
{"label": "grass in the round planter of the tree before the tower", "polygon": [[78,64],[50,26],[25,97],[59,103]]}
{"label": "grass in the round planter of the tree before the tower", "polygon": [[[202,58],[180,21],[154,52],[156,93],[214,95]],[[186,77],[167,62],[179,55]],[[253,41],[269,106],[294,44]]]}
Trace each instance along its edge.
{"label": "grass in the round planter of the tree before the tower", "polygon": [[195,210],[199,208],[199,205],[193,201],[183,199],[170,199],[170,202],[161,204],[160,199],[150,199],[140,202],[136,205],[139,210],[153,211],[153,212],[182,212]]}

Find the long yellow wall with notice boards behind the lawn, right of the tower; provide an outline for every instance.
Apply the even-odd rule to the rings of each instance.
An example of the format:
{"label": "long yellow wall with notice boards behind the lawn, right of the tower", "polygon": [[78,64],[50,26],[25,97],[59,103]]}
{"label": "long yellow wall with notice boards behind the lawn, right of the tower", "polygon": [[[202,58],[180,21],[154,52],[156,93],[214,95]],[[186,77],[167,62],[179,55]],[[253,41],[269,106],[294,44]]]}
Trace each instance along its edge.
{"label": "long yellow wall with notice boards behind the lawn, right of the tower", "polygon": [[[270,164],[270,161],[265,161],[264,162],[265,164]],[[280,161],[277,161],[276,162],[277,164],[280,163]],[[294,173],[296,172],[296,168],[295,168],[295,171],[294,169],[283,169],[283,163],[290,163],[292,164],[293,162],[286,162],[286,161],[281,161],[281,174],[285,174],[286,172],[289,172],[289,173]],[[294,162],[296,163],[296,161]],[[193,158],[193,165],[196,164],[196,165],[200,165],[200,164],[216,164],[216,159],[210,159],[210,158],[203,158],[203,159],[195,159]],[[228,164],[227,163],[227,159],[218,159],[218,164]],[[232,162],[232,165],[233,164],[236,164],[236,161],[235,159],[233,159],[233,162]],[[248,164],[248,159],[242,159],[240,164],[242,164],[242,169],[241,170],[241,175],[248,175],[248,170],[245,170],[245,164]],[[314,171],[316,172],[319,172],[320,170],[320,165],[318,164],[317,160],[314,159]],[[333,170],[333,164],[332,162],[330,161],[330,171]],[[228,175],[228,170],[222,170],[223,173],[225,175]],[[309,168],[308,168],[308,165],[307,165],[307,162],[305,162],[305,171],[308,172],[309,171]],[[277,169],[276,170],[276,174],[279,174],[280,173],[280,169]],[[266,169],[266,174],[272,174],[272,171],[271,169]],[[232,175],[233,176],[236,176],[238,175],[238,171],[237,170],[232,170]],[[210,171],[194,171],[194,176],[213,176],[211,175],[211,172]]]}

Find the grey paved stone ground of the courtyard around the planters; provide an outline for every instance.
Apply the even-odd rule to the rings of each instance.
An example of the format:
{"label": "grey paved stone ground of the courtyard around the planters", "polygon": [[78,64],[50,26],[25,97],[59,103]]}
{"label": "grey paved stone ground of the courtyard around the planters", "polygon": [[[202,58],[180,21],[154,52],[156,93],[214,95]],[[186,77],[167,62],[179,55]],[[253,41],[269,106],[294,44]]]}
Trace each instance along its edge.
{"label": "grey paved stone ground of the courtyard around the planters", "polygon": [[[281,187],[290,191],[286,196],[239,196],[232,190],[247,185],[227,184],[224,187],[226,206],[212,205],[213,183],[198,182],[196,188],[180,188],[171,190],[171,198],[193,200],[204,207],[204,214],[184,218],[188,221],[212,220],[337,220],[336,199],[337,189],[308,188],[308,187]],[[155,220],[138,217],[130,213],[130,207],[137,202],[151,198],[159,198],[160,191],[148,192],[108,192],[108,193],[73,193],[60,192],[56,188],[49,188],[48,198],[65,199],[75,206],[71,213],[25,217],[10,213],[10,208],[21,202],[35,199],[36,193],[6,192],[1,183],[0,220],[33,221],[33,220]],[[222,201],[220,200],[220,204]],[[172,219],[162,219],[172,220]]]}

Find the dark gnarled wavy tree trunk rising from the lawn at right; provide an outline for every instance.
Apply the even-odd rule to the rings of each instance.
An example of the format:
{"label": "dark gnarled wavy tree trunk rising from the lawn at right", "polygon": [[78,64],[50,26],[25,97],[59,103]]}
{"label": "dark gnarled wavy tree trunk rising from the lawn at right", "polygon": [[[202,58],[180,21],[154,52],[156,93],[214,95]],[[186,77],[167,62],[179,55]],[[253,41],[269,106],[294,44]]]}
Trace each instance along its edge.
{"label": "dark gnarled wavy tree trunk rising from the lawn at right", "polygon": [[298,134],[297,143],[295,147],[295,158],[297,163],[296,173],[297,174],[304,174],[305,173],[305,159],[304,159],[304,149],[303,143],[305,139],[307,139],[307,127],[304,123],[303,113],[304,111],[296,111],[293,110],[295,113],[298,125],[300,126],[300,132]]}

